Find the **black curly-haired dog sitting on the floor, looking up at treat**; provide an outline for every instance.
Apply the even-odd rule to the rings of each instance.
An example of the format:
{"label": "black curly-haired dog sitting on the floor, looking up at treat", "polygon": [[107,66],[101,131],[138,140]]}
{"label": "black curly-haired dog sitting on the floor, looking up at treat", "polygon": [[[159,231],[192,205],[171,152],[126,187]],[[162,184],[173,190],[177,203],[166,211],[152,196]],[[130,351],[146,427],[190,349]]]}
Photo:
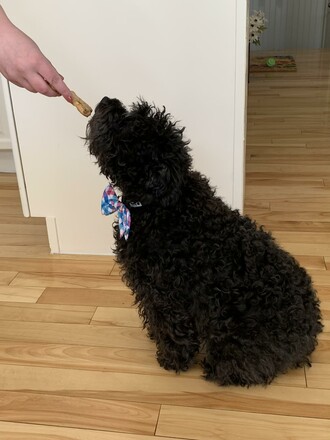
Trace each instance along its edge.
{"label": "black curly-haired dog sitting on the floor, looking up at treat", "polygon": [[133,206],[127,241],[115,222],[117,261],[162,367],[185,371],[202,352],[209,380],[269,384],[310,365],[319,301],[297,261],[191,169],[183,130],[143,100],[98,104],[86,142]]}

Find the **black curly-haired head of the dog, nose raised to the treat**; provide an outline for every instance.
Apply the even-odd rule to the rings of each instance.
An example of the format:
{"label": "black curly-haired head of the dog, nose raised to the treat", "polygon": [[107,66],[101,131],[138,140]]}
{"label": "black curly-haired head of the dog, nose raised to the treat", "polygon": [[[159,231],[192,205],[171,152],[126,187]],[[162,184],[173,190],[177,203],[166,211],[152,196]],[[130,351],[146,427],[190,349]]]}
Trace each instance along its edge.
{"label": "black curly-haired head of the dog, nose raised to the treat", "polygon": [[163,110],[140,100],[127,110],[103,98],[87,126],[89,151],[130,201],[164,206],[180,194],[191,167],[183,128]]}

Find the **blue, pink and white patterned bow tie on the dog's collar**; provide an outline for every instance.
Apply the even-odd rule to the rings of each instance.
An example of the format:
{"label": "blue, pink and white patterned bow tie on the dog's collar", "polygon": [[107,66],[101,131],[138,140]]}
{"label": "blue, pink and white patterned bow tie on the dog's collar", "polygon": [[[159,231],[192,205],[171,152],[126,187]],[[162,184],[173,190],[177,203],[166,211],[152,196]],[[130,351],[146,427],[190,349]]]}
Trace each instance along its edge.
{"label": "blue, pink and white patterned bow tie on the dog's collar", "polygon": [[103,192],[101,211],[103,215],[118,211],[119,235],[120,238],[124,236],[127,240],[131,227],[131,213],[124,203],[119,200],[112,185],[108,185]]}

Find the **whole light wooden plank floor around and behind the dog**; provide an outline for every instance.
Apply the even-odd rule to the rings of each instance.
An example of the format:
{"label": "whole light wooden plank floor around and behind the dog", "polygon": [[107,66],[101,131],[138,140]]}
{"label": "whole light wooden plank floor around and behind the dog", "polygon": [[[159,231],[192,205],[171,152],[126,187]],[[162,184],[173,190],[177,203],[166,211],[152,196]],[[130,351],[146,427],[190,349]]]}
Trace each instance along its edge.
{"label": "whole light wooden plank floor around and behind the dog", "polygon": [[0,175],[0,438],[329,440],[330,52],[249,83],[246,213],[309,269],[325,332],[268,388],[162,370],[110,257],[50,256]]}

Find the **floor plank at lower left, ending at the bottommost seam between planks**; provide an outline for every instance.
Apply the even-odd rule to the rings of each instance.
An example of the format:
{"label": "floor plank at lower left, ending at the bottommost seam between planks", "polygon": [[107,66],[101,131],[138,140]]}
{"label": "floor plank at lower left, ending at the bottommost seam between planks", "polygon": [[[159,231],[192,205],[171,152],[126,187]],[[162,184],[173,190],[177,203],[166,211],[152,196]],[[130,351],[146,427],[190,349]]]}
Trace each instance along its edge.
{"label": "floor plank at lower left, ending at the bottommost seam between planks", "polygon": [[0,419],[7,422],[151,435],[159,409],[156,404],[0,391]]}

